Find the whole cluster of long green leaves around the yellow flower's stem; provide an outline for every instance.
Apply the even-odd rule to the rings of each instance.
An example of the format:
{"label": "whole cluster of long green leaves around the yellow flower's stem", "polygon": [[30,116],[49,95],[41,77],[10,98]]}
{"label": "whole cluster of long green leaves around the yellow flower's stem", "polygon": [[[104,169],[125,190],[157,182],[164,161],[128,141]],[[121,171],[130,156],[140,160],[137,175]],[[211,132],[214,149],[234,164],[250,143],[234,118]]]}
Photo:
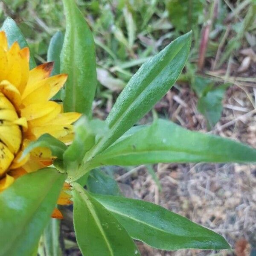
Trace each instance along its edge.
{"label": "whole cluster of long green leaves around the yellow flower's stem", "polygon": [[[122,197],[115,181],[95,169],[157,162],[256,160],[253,148],[188,131],[167,120],[155,119],[151,125],[134,126],[179,78],[189,55],[191,32],[172,41],[140,67],[103,122],[91,117],[97,84],[93,35],[75,2],[63,0],[63,3],[65,36],[57,33],[52,38],[48,57],[55,61],[53,73],[68,73],[69,78],[65,90],[55,97],[63,99],[64,111],[78,111],[84,116],[75,124],[75,139],[70,146],[45,134],[24,152],[25,155],[35,147],[47,146],[57,160],[55,168],[24,175],[0,194],[3,207],[0,227],[5,231],[0,239],[0,255],[36,255],[47,224],[43,235],[47,255],[53,251],[58,255],[58,241],[50,232],[55,224],[49,224],[49,216],[64,180],[73,187],[74,227],[83,255],[140,255],[133,239],[163,250],[229,248],[223,237],[180,215],[148,202]],[[26,45],[11,18],[3,23],[2,29],[9,44],[18,41],[22,47]],[[120,31],[115,31],[121,40]],[[33,67],[33,59],[30,65]],[[198,93],[202,99],[209,96],[207,90]]]}

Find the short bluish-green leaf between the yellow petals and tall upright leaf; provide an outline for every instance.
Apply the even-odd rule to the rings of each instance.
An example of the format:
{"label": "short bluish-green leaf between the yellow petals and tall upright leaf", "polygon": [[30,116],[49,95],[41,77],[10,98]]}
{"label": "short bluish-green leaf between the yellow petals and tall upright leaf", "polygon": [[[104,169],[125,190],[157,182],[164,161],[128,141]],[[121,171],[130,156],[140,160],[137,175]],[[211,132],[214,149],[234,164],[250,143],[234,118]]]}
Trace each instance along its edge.
{"label": "short bluish-green leaf between the yellow petals and tall upright leaf", "polygon": [[56,32],[50,41],[47,51],[47,61],[54,61],[51,75],[55,76],[61,73],[60,54],[64,41],[64,35],[61,31]]}

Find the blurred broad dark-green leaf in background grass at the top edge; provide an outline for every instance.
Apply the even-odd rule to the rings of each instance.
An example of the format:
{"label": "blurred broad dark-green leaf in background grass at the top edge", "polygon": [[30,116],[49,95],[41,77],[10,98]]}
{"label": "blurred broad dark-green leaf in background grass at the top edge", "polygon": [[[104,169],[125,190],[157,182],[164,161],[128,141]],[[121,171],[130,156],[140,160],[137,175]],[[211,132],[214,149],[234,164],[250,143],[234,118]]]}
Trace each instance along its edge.
{"label": "blurred broad dark-green leaf in background grass at the top edge", "polygon": [[166,8],[172,25],[183,33],[198,25],[203,17],[203,0],[168,0]]}

